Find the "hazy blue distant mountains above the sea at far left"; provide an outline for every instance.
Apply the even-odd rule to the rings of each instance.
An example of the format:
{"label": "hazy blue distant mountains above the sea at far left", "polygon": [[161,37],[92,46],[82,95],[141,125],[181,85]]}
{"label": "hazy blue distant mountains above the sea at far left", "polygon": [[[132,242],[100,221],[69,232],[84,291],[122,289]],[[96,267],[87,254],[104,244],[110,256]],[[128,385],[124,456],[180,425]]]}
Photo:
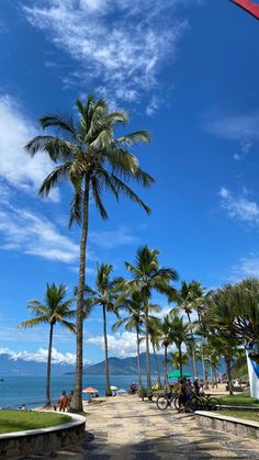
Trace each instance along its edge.
{"label": "hazy blue distant mountains above the sea at far left", "polygon": [[[47,364],[45,362],[25,361],[23,359],[11,359],[7,355],[0,355],[0,378],[4,375],[46,375]],[[67,372],[75,372],[75,366],[53,364],[53,375],[64,375]]]}

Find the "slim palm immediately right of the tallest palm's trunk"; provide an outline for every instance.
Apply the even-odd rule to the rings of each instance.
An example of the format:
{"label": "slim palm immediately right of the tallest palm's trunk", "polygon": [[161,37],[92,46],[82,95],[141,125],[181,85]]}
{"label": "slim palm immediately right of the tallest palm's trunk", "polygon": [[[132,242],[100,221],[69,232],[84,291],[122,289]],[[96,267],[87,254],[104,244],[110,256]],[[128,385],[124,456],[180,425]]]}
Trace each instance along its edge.
{"label": "slim palm immediately right of the tallest palm's trunk", "polygon": [[103,315],[103,340],[104,340],[104,352],[105,352],[105,394],[111,396],[111,382],[109,371],[109,356],[108,356],[108,333],[106,333],[106,313],[116,313],[116,288],[122,282],[122,278],[111,278],[113,266],[110,263],[97,265],[97,279],[95,290],[89,285],[85,287],[87,305],[93,307],[100,305],[102,307]]}

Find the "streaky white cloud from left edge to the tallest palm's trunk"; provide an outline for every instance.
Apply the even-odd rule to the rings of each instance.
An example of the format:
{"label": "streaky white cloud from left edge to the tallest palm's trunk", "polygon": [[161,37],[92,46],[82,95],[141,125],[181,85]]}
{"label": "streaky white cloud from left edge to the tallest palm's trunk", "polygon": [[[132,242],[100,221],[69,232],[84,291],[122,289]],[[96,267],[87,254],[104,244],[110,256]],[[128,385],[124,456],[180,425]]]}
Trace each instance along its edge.
{"label": "streaky white cloud from left edge to the tallest palm's trunk", "polygon": [[78,259],[79,247],[57,226],[38,214],[11,205],[0,207],[1,249],[20,250],[66,263]]}

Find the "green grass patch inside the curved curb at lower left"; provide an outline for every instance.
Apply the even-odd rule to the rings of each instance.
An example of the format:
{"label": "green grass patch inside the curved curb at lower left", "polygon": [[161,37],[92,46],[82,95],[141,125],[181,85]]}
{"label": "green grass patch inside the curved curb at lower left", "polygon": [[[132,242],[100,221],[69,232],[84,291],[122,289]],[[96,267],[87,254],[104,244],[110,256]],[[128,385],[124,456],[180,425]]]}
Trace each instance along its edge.
{"label": "green grass patch inside the curved curb at lower left", "polygon": [[65,414],[30,411],[0,411],[0,434],[63,425],[71,418]]}

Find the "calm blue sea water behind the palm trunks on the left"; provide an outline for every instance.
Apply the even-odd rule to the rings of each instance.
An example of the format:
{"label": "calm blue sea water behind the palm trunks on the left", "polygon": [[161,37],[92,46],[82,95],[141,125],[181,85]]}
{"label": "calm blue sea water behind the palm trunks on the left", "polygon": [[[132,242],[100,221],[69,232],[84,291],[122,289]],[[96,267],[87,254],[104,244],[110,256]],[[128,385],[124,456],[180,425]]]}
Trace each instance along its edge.
{"label": "calm blue sea water behind the palm trunks on the left", "polygon": [[[156,379],[153,379],[156,380]],[[52,402],[57,402],[64,390],[69,393],[74,388],[74,375],[52,377]],[[137,383],[136,375],[111,375],[111,385],[128,390],[132,382]],[[105,393],[105,375],[83,375],[82,388],[93,386],[99,395]],[[87,394],[83,394],[87,400]],[[27,408],[40,407],[46,401],[45,377],[4,377],[0,381],[0,407],[18,408],[25,404]]]}

